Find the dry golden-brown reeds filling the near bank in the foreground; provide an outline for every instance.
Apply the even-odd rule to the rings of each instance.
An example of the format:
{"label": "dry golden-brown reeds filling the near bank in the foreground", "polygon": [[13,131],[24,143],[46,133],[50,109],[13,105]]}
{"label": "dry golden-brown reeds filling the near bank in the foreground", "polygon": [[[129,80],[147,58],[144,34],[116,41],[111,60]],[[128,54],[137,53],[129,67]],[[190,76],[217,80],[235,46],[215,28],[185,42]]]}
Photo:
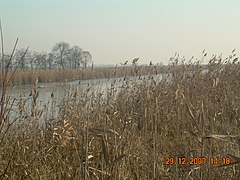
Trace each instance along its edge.
{"label": "dry golden-brown reeds filling the near bank in the foreground", "polygon": [[[112,79],[107,98],[69,88],[58,117],[54,96],[41,109],[33,94],[31,115],[0,134],[0,179],[238,179],[240,65],[214,57],[203,72],[179,61],[162,80],[126,79],[119,93]],[[166,157],[236,162],[177,166]]]}

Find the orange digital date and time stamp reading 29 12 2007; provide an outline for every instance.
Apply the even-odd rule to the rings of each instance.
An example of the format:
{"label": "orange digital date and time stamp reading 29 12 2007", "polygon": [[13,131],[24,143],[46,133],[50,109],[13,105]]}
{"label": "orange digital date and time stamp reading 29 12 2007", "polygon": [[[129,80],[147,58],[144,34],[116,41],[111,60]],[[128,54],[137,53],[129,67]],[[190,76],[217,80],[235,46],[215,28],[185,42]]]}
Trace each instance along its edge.
{"label": "orange digital date and time stamp reading 29 12 2007", "polygon": [[231,164],[231,159],[228,157],[167,157],[164,158],[164,163],[166,165],[204,165],[204,164],[210,164],[210,165],[228,165]]}

